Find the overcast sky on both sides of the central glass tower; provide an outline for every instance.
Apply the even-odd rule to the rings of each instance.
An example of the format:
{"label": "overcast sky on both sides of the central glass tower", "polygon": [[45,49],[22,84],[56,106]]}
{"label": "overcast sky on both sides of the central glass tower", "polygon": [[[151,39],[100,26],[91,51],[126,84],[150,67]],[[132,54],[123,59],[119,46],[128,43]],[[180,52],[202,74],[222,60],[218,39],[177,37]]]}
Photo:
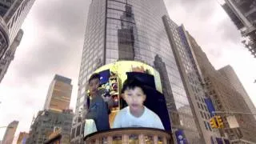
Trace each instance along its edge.
{"label": "overcast sky on both sides of the central glass tower", "polygon": [[[218,70],[230,65],[256,104],[256,58],[241,44],[241,36],[217,0],[165,0],[170,18],[197,40]],[[86,14],[90,0],[36,0],[22,29],[24,36],[14,61],[0,83],[0,126],[18,120],[28,132],[33,115],[42,110],[54,74],[72,78],[71,108],[78,92]],[[0,129],[2,139],[4,129]]]}

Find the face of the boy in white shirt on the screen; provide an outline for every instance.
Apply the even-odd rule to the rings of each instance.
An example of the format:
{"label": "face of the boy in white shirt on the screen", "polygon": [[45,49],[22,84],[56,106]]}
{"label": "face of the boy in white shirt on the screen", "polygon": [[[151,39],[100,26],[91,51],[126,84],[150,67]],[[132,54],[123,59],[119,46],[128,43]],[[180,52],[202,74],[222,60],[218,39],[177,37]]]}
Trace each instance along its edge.
{"label": "face of the boy in white shirt on the screen", "polygon": [[123,98],[130,106],[130,110],[134,112],[143,109],[143,103],[146,100],[146,94],[140,87],[134,87],[134,89],[128,89],[124,91]]}

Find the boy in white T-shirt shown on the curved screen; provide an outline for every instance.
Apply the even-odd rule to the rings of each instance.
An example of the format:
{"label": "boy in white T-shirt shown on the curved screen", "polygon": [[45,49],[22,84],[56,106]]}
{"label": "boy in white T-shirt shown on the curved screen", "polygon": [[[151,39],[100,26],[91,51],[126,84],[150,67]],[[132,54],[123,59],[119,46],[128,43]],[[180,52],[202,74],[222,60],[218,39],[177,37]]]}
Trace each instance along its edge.
{"label": "boy in white T-shirt shown on the curved screen", "polygon": [[146,100],[145,88],[136,78],[126,79],[122,87],[122,98],[128,106],[114,118],[114,128],[150,127],[164,130],[158,115],[143,105]]}

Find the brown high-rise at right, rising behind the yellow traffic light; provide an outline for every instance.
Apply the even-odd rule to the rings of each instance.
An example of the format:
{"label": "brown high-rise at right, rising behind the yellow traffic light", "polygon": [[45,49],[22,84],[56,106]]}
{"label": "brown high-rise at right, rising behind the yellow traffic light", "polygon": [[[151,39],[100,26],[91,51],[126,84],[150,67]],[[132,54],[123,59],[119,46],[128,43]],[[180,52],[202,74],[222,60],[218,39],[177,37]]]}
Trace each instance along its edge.
{"label": "brown high-rise at right, rising behind the yellow traffic light", "polygon": [[[194,38],[192,36],[189,38],[204,77],[206,94],[214,103],[215,110],[224,113],[221,116],[225,128],[219,129],[220,134],[222,137],[227,137],[231,143],[255,143],[256,121],[252,115],[243,114],[250,113],[250,109],[242,94],[230,84],[225,74],[214,69]],[[230,112],[238,112],[238,114]],[[238,127],[230,127],[230,123],[227,121],[229,116],[235,117]]]}

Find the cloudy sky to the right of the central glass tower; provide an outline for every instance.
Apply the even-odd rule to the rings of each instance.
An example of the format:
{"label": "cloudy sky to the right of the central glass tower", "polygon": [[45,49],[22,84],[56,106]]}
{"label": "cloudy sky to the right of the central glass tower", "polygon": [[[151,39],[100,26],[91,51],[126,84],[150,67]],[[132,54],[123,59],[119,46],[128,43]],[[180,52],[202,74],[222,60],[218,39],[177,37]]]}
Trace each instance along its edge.
{"label": "cloudy sky to the right of the central glass tower", "polygon": [[165,0],[170,18],[183,23],[215,69],[230,65],[256,105],[256,58],[241,43],[239,31],[218,1]]}

